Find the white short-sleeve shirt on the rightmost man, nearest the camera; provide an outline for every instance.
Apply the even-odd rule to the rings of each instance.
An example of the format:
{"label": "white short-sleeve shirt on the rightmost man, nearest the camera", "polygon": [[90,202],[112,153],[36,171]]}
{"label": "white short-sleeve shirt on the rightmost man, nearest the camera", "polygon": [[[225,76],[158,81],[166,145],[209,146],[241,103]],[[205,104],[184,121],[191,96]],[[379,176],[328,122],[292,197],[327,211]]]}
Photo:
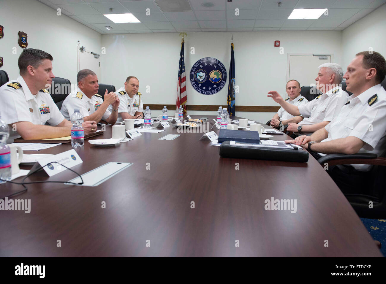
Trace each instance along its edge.
{"label": "white short-sleeve shirt on the rightmost man, nearest the camera", "polygon": [[[337,117],[325,129],[328,137],[322,142],[354,136],[365,142],[358,153],[375,153],[381,156],[386,149],[386,91],[378,84],[361,95],[351,95]],[[371,165],[350,166],[358,171],[371,169]]]}

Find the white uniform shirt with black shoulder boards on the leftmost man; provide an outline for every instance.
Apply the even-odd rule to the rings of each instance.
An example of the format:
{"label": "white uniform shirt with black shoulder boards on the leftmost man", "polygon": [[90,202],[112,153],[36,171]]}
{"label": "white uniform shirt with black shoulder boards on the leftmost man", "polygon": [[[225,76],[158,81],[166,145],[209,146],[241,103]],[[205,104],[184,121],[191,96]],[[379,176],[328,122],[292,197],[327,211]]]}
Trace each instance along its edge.
{"label": "white uniform shirt with black shoulder boards on the leftmost man", "polygon": [[[55,126],[64,120],[49,92],[42,89],[32,95],[22,76],[0,87],[0,115],[7,124],[27,121],[40,125],[48,122]],[[8,143],[20,137],[12,128]]]}

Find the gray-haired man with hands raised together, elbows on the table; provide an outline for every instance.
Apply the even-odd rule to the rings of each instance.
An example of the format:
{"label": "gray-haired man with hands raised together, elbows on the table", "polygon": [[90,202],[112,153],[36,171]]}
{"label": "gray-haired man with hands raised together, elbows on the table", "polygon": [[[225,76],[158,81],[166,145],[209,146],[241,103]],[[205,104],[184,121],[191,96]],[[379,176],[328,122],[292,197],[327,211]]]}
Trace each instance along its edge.
{"label": "gray-haired man with hands raised together, elbows on the table", "polygon": [[[107,123],[115,124],[118,118],[119,98],[114,92],[105,92],[105,100],[98,95],[98,77],[90,69],[83,69],[78,72],[76,77],[78,87],[71,92],[63,101],[61,113],[66,119],[70,119],[75,108],[80,109],[84,120],[95,120],[97,123],[101,119]],[[107,108],[112,106],[112,112]],[[95,129],[94,129],[95,130]]]}

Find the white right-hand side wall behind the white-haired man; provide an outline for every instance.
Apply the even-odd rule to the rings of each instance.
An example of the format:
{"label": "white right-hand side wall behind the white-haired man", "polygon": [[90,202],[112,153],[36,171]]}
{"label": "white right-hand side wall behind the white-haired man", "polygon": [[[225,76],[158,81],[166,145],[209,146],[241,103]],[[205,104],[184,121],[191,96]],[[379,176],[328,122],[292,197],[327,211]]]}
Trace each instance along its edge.
{"label": "white right-hand side wall behind the white-haired man", "polygon": [[342,40],[344,68],[369,47],[386,57],[386,4],[344,29]]}

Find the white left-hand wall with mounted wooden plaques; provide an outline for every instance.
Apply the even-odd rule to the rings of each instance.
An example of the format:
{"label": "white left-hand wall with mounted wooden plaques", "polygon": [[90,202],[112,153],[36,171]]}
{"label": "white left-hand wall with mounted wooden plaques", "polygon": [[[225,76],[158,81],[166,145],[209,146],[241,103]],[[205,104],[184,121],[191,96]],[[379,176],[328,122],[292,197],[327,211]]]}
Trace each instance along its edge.
{"label": "white left-hand wall with mounted wooden plaques", "polygon": [[[76,84],[77,41],[86,49],[101,50],[101,34],[76,22],[36,0],[1,0],[0,24],[4,37],[0,39],[0,56],[4,65],[1,70],[11,79],[19,76],[17,59],[22,52],[18,32],[26,32],[27,48],[42,49],[52,55],[53,73]],[[16,54],[12,48],[16,47]]]}

